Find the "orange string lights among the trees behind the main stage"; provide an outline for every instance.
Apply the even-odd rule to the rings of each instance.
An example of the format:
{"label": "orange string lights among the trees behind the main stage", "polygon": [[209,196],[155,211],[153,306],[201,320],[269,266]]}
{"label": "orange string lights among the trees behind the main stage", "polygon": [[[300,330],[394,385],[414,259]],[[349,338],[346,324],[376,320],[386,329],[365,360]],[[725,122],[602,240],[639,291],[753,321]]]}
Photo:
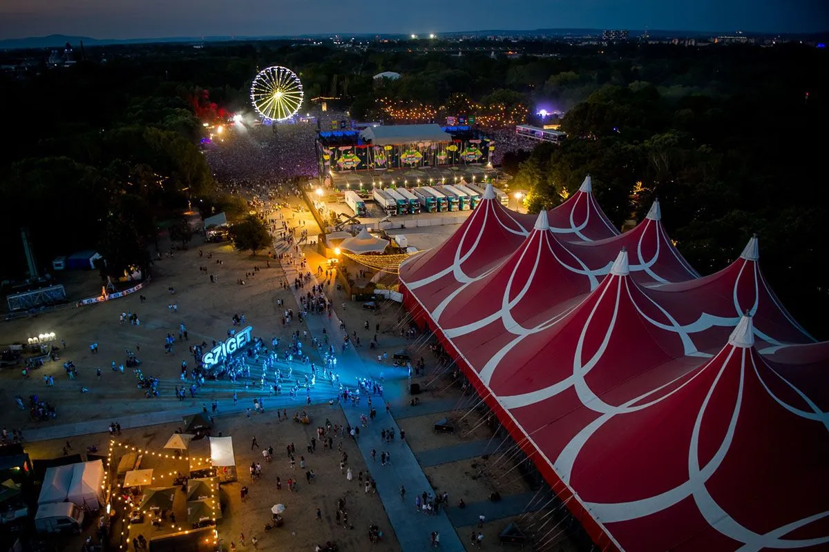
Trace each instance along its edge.
{"label": "orange string lights among the trees behind the main stage", "polygon": [[380,110],[397,121],[429,121],[439,113],[453,111],[464,112],[475,118],[475,122],[482,127],[511,127],[526,121],[530,110],[521,103],[507,106],[504,103],[482,104],[468,99],[463,100],[463,106],[448,109],[446,106],[436,108],[425,103],[411,103],[389,98],[379,98]]}

